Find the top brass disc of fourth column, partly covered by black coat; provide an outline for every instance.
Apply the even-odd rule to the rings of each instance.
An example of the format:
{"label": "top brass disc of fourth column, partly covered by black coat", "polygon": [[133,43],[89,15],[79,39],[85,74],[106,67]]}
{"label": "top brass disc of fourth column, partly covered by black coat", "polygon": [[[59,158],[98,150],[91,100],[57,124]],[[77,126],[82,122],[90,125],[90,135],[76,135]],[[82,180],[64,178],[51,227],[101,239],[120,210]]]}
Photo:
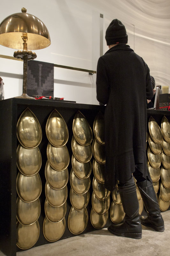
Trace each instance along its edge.
{"label": "top brass disc of fourth column, partly covered by black coat", "polygon": [[105,144],[105,123],[104,115],[101,112],[99,112],[94,119],[93,132],[96,140],[100,144]]}

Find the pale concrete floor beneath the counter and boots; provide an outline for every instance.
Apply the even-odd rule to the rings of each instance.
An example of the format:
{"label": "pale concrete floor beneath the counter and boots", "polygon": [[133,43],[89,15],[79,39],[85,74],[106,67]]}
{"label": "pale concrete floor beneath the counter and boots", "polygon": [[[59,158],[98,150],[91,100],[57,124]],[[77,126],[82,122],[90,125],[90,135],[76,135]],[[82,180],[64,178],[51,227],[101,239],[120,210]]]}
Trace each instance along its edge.
{"label": "pale concrete floor beneath the counter and boots", "polygon": [[[17,252],[17,256],[169,256],[170,210],[162,212],[165,231],[156,232],[142,226],[142,239],[131,239],[110,234],[107,228],[69,237],[55,243]],[[0,252],[0,256],[4,254]]]}

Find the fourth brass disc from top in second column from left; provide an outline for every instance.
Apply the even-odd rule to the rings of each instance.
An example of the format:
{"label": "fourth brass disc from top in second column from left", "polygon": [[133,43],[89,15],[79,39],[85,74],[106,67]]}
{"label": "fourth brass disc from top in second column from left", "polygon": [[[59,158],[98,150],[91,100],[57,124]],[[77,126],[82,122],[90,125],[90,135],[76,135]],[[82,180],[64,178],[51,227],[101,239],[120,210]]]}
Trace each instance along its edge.
{"label": "fourth brass disc from top in second column from left", "polygon": [[48,203],[52,206],[62,206],[67,200],[68,189],[67,186],[61,189],[54,189],[49,186],[48,182],[46,182],[45,195]]}

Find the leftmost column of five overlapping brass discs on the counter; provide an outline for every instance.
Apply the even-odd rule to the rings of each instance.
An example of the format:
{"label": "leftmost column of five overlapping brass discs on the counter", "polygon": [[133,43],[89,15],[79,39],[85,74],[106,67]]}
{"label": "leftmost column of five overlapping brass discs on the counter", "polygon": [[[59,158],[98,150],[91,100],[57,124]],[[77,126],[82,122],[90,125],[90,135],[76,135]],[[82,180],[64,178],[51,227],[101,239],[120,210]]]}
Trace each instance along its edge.
{"label": "leftmost column of five overlapping brass discs on the counter", "polygon": [[39,175],[41,153],[38,145],[42,139],[39,121],[33,112],[26,108],[17,123],[17,246],[31,248],[38,240],[41,212],[39,196],[42,184]]}

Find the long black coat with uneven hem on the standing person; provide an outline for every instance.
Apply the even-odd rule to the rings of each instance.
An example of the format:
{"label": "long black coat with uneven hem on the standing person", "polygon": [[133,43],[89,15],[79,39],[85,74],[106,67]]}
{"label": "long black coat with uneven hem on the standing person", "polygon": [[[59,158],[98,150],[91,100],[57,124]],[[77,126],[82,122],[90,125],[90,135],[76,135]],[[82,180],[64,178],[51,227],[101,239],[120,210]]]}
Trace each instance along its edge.
{"label": "long black coat with uneven hem on the standing person", "polygon": [[126,44],[110,48],[98,60],[97,100],[105,108],[105,188],[113,191],[135,170],[148,176],[146,99],[153,90],[149,68]]}

